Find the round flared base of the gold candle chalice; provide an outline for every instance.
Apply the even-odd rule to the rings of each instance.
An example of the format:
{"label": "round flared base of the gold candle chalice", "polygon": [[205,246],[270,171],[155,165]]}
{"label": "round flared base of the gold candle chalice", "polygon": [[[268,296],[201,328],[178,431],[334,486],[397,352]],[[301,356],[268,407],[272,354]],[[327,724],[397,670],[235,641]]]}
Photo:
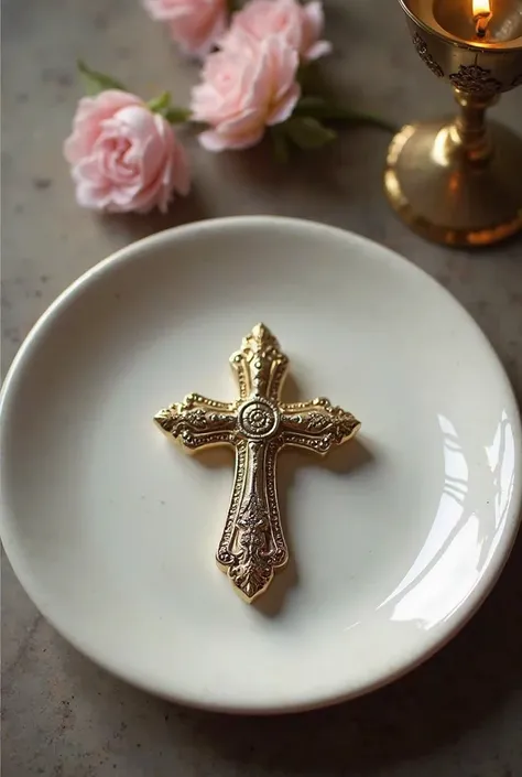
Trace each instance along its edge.
{"label": "round flared base of the gold candle chalice", "polygon": [[394,211],[447,246],[489,246],[522,229],[522,138],[490,122],[488,142],[490,153],[474,159],[454,121],[403,127],[384,173]]}

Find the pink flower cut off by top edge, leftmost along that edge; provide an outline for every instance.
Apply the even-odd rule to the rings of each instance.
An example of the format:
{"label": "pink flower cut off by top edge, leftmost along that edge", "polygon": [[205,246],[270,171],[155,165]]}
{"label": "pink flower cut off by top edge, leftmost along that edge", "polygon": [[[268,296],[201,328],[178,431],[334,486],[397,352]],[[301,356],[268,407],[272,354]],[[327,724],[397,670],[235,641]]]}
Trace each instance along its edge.
{"label": "pink flower cut off by top edge, leftmost along that edge", "polygon": [[227,28],[227,0],[143,0],[152,19],[166,22],[187,54],[204,57]]}

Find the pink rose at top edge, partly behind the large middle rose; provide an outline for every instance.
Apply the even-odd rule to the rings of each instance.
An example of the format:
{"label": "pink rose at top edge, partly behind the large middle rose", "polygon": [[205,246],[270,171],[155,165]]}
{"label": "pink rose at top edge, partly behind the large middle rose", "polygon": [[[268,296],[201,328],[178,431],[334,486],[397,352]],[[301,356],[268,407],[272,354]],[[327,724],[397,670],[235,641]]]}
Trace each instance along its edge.
{"label": "pink rose at top edge, partly behind the large middle rose", "polygon": [[317,60],[331,51],[328,41],[319,40],[323,26],[320,2],[301,6],[298,0],[251,0],[233,14],[230,31],[221,39],[220,45],[227,47],[237,32],[252,35],[258,41],[275,34],[284,37],[302,60]]}

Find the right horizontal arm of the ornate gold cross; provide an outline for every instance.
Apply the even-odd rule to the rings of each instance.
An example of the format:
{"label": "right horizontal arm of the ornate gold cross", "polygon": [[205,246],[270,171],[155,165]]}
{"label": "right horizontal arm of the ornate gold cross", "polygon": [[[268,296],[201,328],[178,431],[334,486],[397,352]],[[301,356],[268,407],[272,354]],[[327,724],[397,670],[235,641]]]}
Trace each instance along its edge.
{"label": "right horizontal arm of the ornate gold cross", "polygon": [[351,413],[334,407],[324,397],[312,402],[283,404],[281,410],[283,445],[295,445],[322,454],[352,438],[360,428]]}

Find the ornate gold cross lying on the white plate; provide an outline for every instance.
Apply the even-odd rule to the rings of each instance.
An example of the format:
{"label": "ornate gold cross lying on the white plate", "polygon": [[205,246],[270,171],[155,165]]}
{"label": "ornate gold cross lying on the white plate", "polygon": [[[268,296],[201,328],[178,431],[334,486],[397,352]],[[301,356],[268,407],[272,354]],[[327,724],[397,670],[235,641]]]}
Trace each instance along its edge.
{"label": "ornate gold cross lying on the white plate", "polygon": [[324,455],[352,438],[360,423],[324,398],[281,401],[289,359],[263,324],[243,338],[230,364],[239,399],[217,402],[189,393],[160,410],[155,421],[189,452],[222,444],[236,449],[232,495],[216,560],[250,603],[289,559],[278,506],[279,452],[293,445]]}

